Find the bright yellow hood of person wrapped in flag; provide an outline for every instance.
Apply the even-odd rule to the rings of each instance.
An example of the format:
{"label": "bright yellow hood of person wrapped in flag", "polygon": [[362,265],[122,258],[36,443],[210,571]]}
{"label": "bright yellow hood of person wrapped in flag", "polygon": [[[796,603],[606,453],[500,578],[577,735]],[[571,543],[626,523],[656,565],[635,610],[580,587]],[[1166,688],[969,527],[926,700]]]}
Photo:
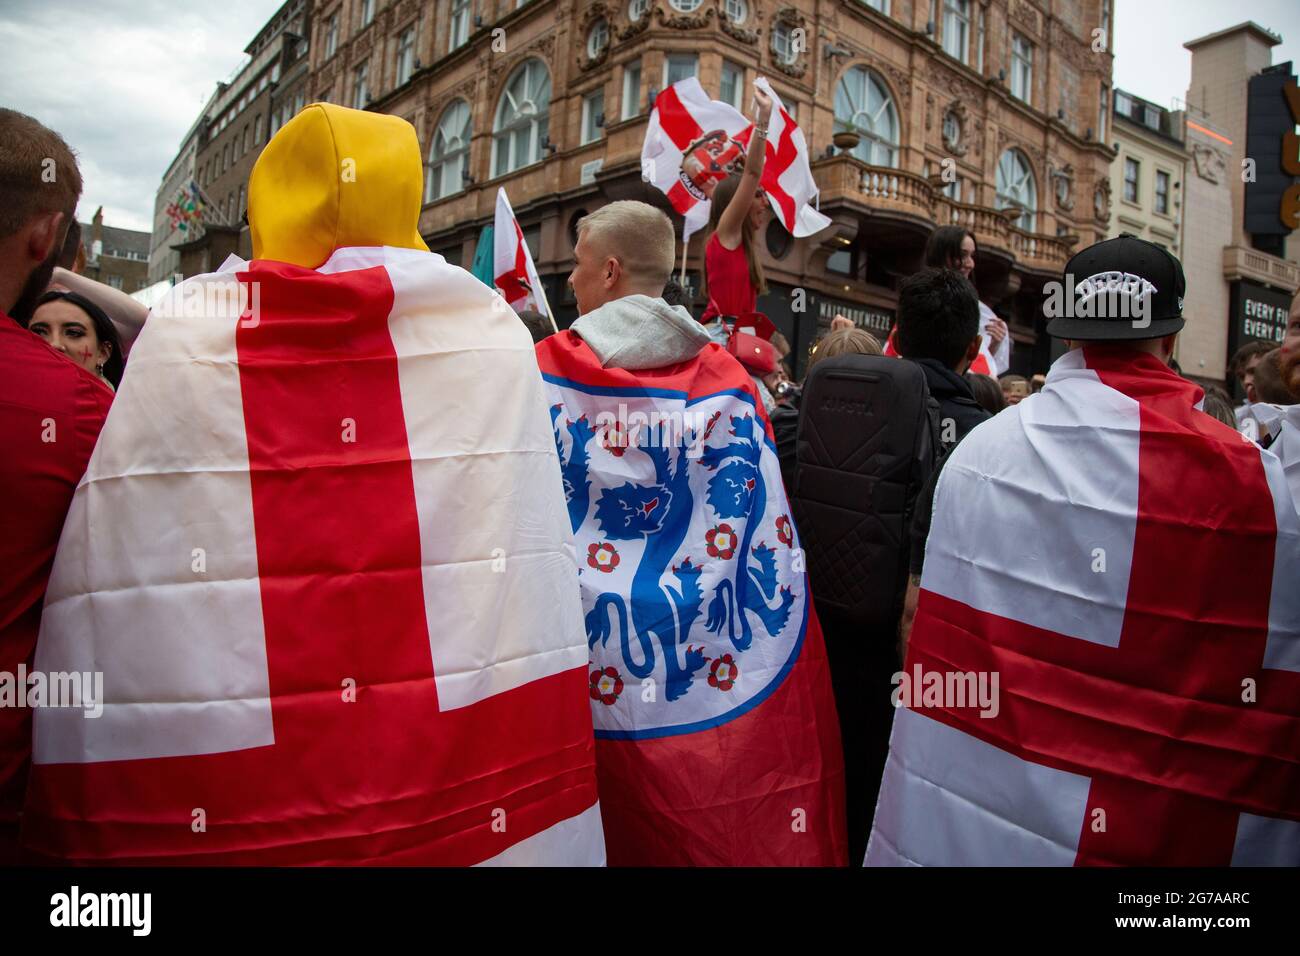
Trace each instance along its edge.
{"label": "bright yellow hood of person wrapped in flag", "polygon": [[348,246],[428,251],[419,228],[422,190],[411,124],[313,103],[272,137],[252,168],[254,259],[315,269]]}

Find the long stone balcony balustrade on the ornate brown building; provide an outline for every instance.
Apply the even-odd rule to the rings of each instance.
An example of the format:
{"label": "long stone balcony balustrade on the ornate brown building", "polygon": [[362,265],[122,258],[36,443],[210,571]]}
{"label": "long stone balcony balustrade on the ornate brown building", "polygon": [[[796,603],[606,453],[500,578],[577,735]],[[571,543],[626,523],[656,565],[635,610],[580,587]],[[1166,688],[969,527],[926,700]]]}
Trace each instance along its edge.
{"label": "long stone balcony balustrade on the ornate brown building", "polygon": [[1000,250],[1018,265],[1058,273],[1070,259],[1072,237],[1028,233],[1011,225],[1013,209],[959,203],[923,176],[905,169],[872,166],[837,155],[812,163],[812,176],[822,190],[822,206],[858,206],[872,215],[914,221],[920,225],[959,225],[975,235],[980,248]]}

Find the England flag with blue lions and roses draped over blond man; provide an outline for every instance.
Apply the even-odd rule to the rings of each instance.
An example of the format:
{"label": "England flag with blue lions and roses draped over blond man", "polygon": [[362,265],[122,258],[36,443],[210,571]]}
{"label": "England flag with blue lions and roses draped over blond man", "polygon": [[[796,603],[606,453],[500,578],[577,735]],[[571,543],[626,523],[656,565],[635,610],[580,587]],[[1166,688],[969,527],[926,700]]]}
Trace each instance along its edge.
{"label": "England flag with blue lions and roses draped over blond man", "polygon": [[842,865],[822,631],[749,375],[538,345],[575,529],[611,865]]}

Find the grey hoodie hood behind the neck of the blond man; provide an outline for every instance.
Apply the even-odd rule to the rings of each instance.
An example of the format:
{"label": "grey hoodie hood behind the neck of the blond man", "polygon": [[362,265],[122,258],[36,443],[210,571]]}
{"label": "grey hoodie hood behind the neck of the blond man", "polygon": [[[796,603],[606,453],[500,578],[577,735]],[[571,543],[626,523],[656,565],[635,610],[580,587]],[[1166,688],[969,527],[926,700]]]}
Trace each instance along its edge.
{"label": "grey hoodie hood behind the neck of the blond man", "polygon": [[581,315],[569,326],[602,368],[663,368],[688,362],[711,341],[681,306],[649,295],[624,295]]}

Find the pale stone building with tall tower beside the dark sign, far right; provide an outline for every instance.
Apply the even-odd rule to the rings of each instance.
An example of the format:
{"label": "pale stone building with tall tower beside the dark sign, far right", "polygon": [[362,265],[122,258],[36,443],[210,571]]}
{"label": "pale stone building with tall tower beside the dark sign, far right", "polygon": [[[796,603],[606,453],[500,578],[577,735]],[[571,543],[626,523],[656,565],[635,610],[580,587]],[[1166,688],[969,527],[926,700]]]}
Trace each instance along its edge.
{"label": "pale stone building with tall tower beside the dark sign, far right", "polygon": [[[1184,44],[1192,51],[1183,124],[1190,157],[1182,256],[1187,325],[1175,358],[1184,373],[1205,384],[1226,382],[1228,359],[1242,345],[1280,342],[1300,285],[1300,241],[1245,229],[1253,174],[1245,160],[1264,161],[1247,156],[1248,91],[1252,78],[1271,69],[1271,48],[1279,42],[1254,23],[1240,23]],[[1226,384],[1238,389],[1235,381]]]}

